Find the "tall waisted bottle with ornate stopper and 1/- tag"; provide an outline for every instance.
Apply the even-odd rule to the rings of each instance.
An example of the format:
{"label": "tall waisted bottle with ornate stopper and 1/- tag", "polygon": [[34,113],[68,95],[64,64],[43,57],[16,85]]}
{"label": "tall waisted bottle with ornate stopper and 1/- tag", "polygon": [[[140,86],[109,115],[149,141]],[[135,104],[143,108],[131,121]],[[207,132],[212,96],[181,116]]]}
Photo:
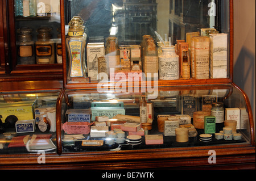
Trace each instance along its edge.
{"label": "tall waisted bottle with ornate stopper and 1/- tag", "polygon": [[68,49],[69,67],[68,81],[73,78],[85,78],[85,44],[86,34],[84,33],[84,20],[80,16],[74,16],[69,24],[66,45]]}

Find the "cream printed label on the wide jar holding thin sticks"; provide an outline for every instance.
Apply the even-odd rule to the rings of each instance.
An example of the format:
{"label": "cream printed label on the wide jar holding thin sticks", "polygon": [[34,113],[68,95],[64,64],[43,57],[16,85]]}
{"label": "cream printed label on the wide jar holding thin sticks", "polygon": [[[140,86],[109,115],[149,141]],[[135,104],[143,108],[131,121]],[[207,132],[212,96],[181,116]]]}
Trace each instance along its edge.
{"label": "cream printed label on the wide jar holding thin sticks", "polygon": [[159,59],[159,79],[179,79],[179,57]]}

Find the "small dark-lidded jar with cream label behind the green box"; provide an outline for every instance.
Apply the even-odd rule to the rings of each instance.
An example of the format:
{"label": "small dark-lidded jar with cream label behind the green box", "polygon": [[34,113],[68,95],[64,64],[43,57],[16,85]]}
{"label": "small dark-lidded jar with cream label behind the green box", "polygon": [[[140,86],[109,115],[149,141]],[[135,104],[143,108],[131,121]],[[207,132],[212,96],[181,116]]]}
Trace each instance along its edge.
{"label": "small dark-lidded jar with cream label behind the green box", "polygon": [[212,103],[212,110],[210,111],[210,114],[215,116],[216,133],[222,131],[224,127],[224,103]]}

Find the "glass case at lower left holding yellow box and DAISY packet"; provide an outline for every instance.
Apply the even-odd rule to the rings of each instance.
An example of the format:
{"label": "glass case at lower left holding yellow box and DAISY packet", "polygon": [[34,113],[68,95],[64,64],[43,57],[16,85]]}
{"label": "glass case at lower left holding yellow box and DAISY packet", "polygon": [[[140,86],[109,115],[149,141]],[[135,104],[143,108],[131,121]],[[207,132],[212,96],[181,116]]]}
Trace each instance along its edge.
{"label": "glass case at lower left holding yellow box and DAISY packet", "polygon": [[56,153],[60,91],[1,92],[0,155]]}

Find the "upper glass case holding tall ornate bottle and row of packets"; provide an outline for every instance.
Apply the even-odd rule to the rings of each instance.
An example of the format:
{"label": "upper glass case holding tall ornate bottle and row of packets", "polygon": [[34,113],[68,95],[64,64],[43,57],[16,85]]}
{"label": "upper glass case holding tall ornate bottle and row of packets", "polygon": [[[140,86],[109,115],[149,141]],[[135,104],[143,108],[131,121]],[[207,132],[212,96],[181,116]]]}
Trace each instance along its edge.
{"label": "upper glass case holding tall ornate bottle and row of packets", "polygon": [[[68,51],[63,58],[67,60],[64,61],[67,88],[96,87],[102,79],[117,82],[120,77],[129,79],[131,73],[142,73],[141,82],[156,78],[161,85],[229,83],[232,79],[229,1],[73,0],[63,3],[62,27],[69,27],[62,36],[67,39]],[[71,36],[72,32],[78,32],[70,26],[74,17],[82,19],[79,36]],[[82,43],[85,52],[80,52],[81,58],[75,57],[75,64],[71,54],[77,54],[77,49],[72,50],[70,42],[82,36],[86,38]],[[164,53],[162,47],[171,50]],[[174,55],[168,57],[174,49],[179,60],[176,62]],[[186,51],[188,60],[183,62]],[[132,69],[134,61],[141,66],[136,71]],[[85,73],[77,74],[77,71]]]}

